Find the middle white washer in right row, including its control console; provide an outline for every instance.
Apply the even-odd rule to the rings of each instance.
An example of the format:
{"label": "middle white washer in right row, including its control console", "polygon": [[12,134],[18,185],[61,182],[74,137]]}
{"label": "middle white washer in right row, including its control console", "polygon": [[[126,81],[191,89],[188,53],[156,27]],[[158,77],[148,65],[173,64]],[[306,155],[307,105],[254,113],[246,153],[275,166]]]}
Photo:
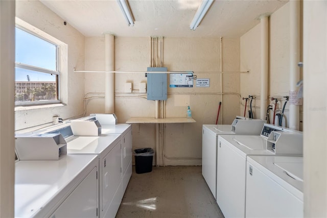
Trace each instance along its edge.
{"label": "middle white washer in right row, including its control console", "polygon": [[261,135],[219,135],[216,200],[224,216],[245,217],[247,156],[302,154],[301,132],[271,124]]}

